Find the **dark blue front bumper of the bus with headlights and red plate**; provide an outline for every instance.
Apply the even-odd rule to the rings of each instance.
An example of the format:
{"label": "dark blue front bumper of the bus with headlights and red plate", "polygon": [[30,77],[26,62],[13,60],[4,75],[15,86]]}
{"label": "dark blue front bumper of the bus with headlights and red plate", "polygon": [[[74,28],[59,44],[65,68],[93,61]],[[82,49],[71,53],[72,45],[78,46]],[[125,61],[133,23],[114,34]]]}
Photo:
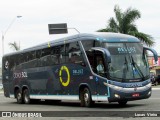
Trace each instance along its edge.
{"label": "dark blue front bumper of the bus with headlights and red plate", "polygon": [[121,88],[118,86],[109,86],[110,97],[109,102],[133,101],[147,99],[151,96],[151,83],[143,87]]}

